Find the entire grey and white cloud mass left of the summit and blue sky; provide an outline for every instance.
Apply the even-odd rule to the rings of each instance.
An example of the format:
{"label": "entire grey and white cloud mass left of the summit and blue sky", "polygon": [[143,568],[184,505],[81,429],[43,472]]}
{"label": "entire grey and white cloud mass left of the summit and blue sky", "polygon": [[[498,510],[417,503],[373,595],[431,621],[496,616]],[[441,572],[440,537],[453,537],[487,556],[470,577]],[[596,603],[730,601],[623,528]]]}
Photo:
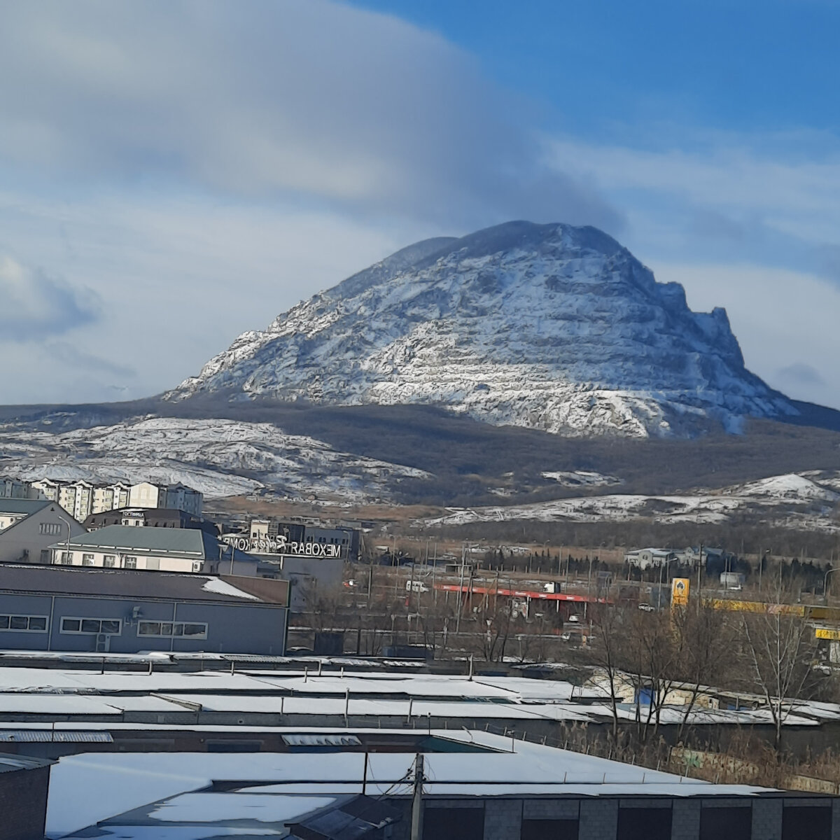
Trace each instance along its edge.
{"label": "entire grey and white cloud mass left of the summit and blue sky", "polygon": [[65,352],[7,328],[4,402],[163,391],[423,236],[617,228],[545,165],[525,108],[437,34],[344,3],[6,4],[0,253],[42,272],[30,315],[50,322],[52,278],[91,288],[102,317]]}

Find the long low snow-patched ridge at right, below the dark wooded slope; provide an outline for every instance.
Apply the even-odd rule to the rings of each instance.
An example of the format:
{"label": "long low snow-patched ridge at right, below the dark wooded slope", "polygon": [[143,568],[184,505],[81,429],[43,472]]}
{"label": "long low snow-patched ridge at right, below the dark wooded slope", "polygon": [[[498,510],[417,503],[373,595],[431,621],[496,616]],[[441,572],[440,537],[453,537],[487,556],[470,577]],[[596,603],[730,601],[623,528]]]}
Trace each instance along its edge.
{"label": "long low snow-patched ridge at right, below the dark wooded slope", "polygon": [[[545,475],[545,474],[543,474]],[[735,514],[754,513],[764,521],[787,527],[837,531],[832,508],[840,492],[805,475],[774,475],[748,484],[675,496],[608,494],[539,501],[507,507],[450,507],[443,517],[423,521],[424,526],[464,525],[473,522],[727,522]]]}

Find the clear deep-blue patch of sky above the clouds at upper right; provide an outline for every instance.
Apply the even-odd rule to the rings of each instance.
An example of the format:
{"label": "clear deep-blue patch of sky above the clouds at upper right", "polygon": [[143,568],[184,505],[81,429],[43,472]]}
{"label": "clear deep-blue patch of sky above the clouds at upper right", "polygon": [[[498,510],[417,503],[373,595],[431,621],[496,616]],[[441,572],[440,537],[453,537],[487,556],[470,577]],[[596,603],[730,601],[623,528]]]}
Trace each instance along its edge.
{"label": "clear deep-blue patch of sky above the clouds at upper right", "polygon": [[616,139],[644,121],[837,131],[840,4],[820,0],[374,0],[444,34],[551,128]]}

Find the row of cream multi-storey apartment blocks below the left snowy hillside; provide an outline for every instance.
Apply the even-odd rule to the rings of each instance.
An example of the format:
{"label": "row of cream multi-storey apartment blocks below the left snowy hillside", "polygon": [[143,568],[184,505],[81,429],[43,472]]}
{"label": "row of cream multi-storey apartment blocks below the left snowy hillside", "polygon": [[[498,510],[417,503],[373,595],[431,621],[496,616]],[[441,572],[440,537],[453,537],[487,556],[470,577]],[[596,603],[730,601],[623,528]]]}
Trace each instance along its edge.
{"label": "row of cream multi-storey apartment blocks below the left snowy hillside", "polygon": [[50,501],[57,501],[80,522],[92,513],[119,510],[123,507],[165,507],[200,517],[203,496],[182,484],[159,485],[150,481],[127,485],[118,481],[94,485],[90,481],[41,479],[32,484],[34,491]]}

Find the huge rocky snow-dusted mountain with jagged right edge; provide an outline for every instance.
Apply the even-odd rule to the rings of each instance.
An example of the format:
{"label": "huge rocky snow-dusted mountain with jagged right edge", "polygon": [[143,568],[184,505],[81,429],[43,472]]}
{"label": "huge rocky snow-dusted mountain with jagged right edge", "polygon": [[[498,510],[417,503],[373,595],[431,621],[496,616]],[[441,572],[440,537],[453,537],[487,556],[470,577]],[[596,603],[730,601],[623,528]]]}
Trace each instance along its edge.
{"label": "huge rocky snow-dusted mountain with jagged right edge", "polygon": [[743,364],[723,309],[692,312],[596,228],[510,222],[397,251],[239,336],[165,395],[427,403],[563,434],[693,435],[795,416]]}

